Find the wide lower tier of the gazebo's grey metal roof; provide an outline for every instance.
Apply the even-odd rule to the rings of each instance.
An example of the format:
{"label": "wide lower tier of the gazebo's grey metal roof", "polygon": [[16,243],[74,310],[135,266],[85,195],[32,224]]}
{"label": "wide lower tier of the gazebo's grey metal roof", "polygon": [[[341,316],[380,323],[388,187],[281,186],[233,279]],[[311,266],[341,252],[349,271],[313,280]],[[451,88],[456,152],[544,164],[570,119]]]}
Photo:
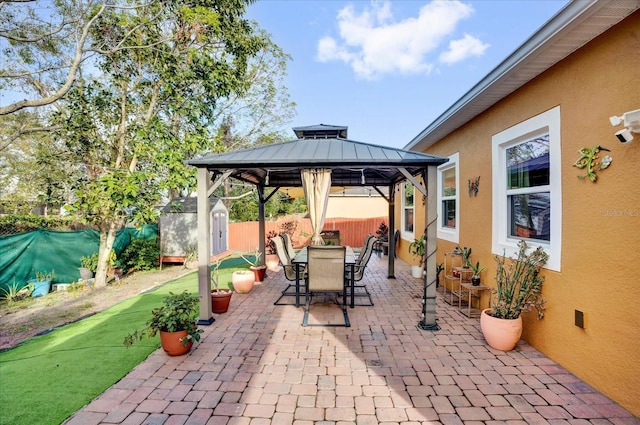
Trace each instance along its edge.
{"label": "wide lower tier of the gazebo's grey metal roof", "polygon": [[[332,186],[388,186],[447,161],[434,155],[348,139],[297,139],[188,160],[198,168],[263,187],[302,186],[304,168],[332,169]],[[363,178],[364,176],[364,178]]]}

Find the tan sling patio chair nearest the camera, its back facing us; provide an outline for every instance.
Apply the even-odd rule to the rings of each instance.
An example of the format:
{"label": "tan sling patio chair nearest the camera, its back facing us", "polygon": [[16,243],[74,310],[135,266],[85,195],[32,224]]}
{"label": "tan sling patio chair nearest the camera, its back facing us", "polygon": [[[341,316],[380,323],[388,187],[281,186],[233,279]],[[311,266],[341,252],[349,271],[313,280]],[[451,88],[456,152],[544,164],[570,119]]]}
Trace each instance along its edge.
{"label": "tan sling patio chair nearest the camera, its back facing us", "polygon": [[345,276],[346,247],[344,246],[310,246],[308,249],[307,293],[305,296],[304,317],[302,326],[351,326],[347,314],[347,298],[342,297],[342,314],[344,323],[309,323],[309,307],[311,297],[317,293],[346,293],[347,278]]}

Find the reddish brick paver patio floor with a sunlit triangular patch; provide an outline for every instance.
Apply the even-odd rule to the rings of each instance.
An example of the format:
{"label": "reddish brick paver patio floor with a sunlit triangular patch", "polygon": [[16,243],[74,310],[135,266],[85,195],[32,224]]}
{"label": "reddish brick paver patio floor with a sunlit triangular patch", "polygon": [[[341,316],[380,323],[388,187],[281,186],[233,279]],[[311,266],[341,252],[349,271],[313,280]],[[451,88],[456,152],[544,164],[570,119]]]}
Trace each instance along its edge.
{"label": "reddish brick paver patio floor with a sunlit triangular patch", "polygon": [[270,272],[188,355],[156,351],[66,424],[640,424],[525,342],[489,348],[440,295],[441,330],[417,329],[421,282],[400,260],[387,279],[386,261],[372,257],[375,306],[349,309],[350,328],[301,327],[303,307],[273,305],[286,281]]}

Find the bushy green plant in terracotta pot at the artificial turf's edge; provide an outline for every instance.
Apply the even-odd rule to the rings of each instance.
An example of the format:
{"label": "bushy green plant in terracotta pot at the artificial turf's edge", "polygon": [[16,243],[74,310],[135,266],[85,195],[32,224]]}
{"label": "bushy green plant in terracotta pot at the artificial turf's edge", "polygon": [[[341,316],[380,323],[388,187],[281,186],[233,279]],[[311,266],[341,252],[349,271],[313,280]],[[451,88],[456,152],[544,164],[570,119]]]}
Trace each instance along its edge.
{"label": "bushy green plant in terracotta pot at the artificial turf's edge", "polygon": [[147,327],[136,330],[124,338],[124,346],[130,347],[143,338],[160,334],[162,349],[170,356],[180,356],[191,350],[195,341],[200,341],[202,329],[198,329],[198,305],[200,298],[186,290],[181,294],[169,292],[163,305],[151,310]]}

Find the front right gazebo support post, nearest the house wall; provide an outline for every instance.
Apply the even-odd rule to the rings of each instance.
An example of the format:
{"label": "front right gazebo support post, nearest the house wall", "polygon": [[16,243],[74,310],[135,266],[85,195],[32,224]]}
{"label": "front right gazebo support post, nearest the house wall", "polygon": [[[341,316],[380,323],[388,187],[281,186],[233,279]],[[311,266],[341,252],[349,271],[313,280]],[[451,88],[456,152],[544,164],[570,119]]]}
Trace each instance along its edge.
{"label": "front right gazebo support post, nearest the house wall", "polygon": [[425,272],[423,274],[422,319],[418,322],[418,328],[423,331],[437,331],[440,326],[436,323],[436,252],[438,220],[437,202],[437,168],[427,167],[423,172],[423,180],[427,187],[427,205],[425,208]]}

